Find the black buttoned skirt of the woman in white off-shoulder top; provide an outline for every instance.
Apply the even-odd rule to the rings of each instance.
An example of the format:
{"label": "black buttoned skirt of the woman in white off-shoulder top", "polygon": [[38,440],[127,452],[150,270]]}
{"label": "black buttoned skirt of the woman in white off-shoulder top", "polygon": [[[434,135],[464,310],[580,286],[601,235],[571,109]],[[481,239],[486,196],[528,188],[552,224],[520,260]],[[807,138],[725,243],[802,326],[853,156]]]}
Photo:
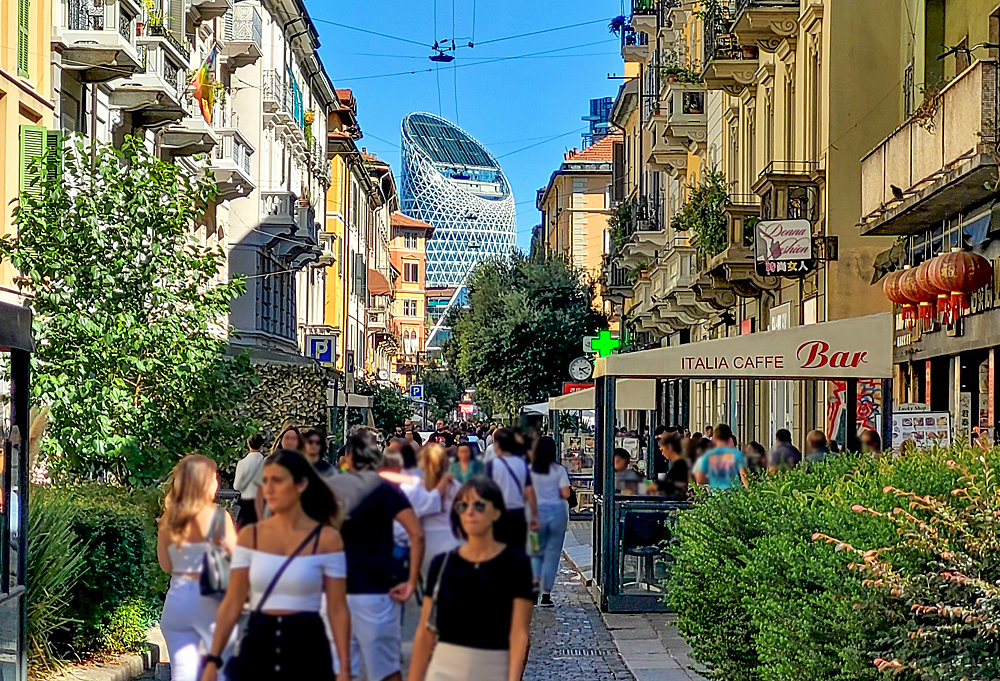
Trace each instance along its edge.
{"label": "black buttoned skirt of the woman in white off-shoulder top", "polygon": [[238,681],[335,681],[319,613],[253,613],[233,660]]}

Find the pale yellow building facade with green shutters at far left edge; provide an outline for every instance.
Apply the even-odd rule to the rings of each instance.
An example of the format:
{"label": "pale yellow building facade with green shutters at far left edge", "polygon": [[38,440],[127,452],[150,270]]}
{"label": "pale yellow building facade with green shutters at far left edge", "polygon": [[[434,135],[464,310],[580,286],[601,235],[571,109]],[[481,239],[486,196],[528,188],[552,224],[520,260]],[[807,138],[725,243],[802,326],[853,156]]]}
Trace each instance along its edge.
{"label": "pale yellow building facade with green shutters at far left edge", "polygon": [[[0,234],[14,232],[12,210],[27,179],[30,161],[41,155],[52,127],[51,0],[0,2]],[[25,175],[28,173],[28,177]],[[20,303],[9,262],[0,263],[0,301]]]}

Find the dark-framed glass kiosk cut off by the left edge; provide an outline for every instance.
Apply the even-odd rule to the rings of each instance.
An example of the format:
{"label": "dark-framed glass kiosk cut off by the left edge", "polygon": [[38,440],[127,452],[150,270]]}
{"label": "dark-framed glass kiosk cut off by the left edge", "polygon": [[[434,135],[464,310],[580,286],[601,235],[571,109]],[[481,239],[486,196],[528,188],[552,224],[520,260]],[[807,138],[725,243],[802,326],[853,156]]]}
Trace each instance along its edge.
{"label": "dark-framed glass kiosk cut off by the left edge", "polygon": [[0,303],[0,679],[28,678],[28,376],[31,311]]}

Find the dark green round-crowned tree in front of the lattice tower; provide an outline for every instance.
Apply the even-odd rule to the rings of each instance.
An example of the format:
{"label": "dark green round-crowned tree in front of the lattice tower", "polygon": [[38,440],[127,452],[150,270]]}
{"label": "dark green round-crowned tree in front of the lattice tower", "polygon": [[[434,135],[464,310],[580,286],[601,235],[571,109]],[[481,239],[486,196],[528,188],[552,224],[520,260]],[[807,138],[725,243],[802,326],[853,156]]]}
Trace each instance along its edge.
{"label": "dark green round-crowned tree in front of the lattice tower", "polygon": [[477,400],[510,413],[562,392],[581,339],[607,324],[591,305],[594,282],[559,256],[484,262],[468,287],[453,324],[457,369]]}

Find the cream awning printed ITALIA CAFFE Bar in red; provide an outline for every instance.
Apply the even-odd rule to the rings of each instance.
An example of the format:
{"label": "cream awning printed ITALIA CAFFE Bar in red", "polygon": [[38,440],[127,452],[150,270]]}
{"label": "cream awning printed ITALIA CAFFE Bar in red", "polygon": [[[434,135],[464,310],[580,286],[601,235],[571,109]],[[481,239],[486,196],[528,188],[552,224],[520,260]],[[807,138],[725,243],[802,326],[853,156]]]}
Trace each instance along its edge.
{"label": "cream awning printed ITALIA CAFFE Bar in red", "polygon": [[[891,313],[602,357],[594,376],[892,378]],[[621,408],[621,407],[619,407]]]}

